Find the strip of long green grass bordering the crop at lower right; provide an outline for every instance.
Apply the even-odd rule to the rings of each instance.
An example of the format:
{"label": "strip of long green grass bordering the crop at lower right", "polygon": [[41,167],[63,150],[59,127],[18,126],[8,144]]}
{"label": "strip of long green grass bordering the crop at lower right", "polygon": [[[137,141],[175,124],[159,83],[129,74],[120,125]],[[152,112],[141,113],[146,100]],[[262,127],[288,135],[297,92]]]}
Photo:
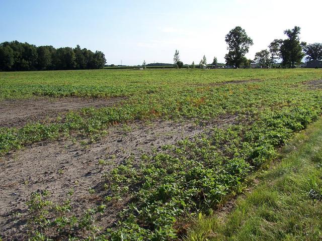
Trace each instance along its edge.
{"label": "strip of long green grass bordering the crop at lower right", "polygon": [[186,240],[321,240],[321,143],[322,118],[283,148],[231,212],[200,214]]}

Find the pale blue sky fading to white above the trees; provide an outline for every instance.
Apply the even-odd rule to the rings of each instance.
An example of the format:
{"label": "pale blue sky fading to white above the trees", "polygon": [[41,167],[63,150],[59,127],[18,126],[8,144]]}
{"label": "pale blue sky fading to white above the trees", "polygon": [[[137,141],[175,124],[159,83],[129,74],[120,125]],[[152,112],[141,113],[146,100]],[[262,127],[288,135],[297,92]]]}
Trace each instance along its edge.
{"label": "pale blue sky fading to white above the trees", "polygon": [[322,43],[322,1],[297,0],[0,0],[0,42],[18,40],[103,51],[107,64],[185,64],[214,56],[225,62],[225,35],[245,29],[254,41],[246,57],[266,49],[284,30],[301,27],[301,41]]}

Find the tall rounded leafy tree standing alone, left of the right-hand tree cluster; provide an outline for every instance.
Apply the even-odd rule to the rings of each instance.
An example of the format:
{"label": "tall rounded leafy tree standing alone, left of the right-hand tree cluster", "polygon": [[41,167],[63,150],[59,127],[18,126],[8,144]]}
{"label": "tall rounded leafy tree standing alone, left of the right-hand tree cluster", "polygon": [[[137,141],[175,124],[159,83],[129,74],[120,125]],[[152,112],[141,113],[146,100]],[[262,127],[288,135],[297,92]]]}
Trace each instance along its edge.
{"label": "tall rounded leafy tree standing alone, left of the right-hand tree cluster", "polygon": [[234,65],[239,68],[244,61],[245,54],[253,45],[253,40],[248,37],[244,29],[237,26],[226,35],[225,41],[229,50],[228,54],[225,55],[227,65]]}

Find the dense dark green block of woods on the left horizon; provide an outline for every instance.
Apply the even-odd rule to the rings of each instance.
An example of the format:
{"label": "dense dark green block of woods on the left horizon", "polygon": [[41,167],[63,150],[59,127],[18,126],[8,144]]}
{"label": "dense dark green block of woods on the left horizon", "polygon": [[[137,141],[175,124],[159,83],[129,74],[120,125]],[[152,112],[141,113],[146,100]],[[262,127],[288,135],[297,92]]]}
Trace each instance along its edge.
{"label": "dense dark green block of woods on the left horizon", "polygon": [[101,51],[35,46],[18,41],[0,44],[0,71],[102,69],[106,63]]}

